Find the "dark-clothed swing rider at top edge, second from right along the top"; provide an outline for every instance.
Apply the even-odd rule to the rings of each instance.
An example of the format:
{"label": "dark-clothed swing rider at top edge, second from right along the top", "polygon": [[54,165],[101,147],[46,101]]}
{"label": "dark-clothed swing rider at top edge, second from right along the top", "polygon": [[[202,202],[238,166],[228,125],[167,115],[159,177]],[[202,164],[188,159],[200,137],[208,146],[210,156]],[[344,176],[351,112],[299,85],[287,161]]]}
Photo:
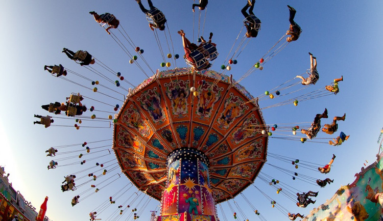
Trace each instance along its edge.
{"label": "dark-clothed swing rider at top edge, second from right along the top", "polygon": [[[246,19],[246,21],[244,22],[247,30],[245,35],[248,38],[257,37],[261,23],[259,18],[257,18],[253,13],[254,4],[255,0],[248,0],[246,6],[241,10],[242,14],[245,16]],[[246,12],[247,9],[249,9],[249,13]]]}

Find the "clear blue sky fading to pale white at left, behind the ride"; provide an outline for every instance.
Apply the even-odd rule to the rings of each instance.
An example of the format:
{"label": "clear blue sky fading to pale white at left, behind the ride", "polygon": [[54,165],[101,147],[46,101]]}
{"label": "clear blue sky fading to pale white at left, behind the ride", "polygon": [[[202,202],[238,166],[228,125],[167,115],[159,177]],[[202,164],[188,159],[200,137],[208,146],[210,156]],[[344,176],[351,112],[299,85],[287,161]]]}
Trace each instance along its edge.
{"label": "clear blue sky fading to pale white at left, behind the ride", "polygon": [[[142,2],[144,6],[148,6],[146,1]],[[167,19],[165,31],[167,33],[169,30],[171,35],[171,41],[168,42],[170,42],[170,46],[174,46],[175,53],[179,53],[182,57],[183,48],[177,31],[183,29],[186,37],[193,39],[193,1],[154,0],[153,4],[165,14]],[[201,19],[201,29],[204,26],[205,38],[209,32],[214,33],[213,42],[217,43],[217,49],[220,53],[211,69],[221,71],[220,66],[225,61],[243,26],[244,18],[241,9],[245,4],[245,0],[211,0],[209,2],[206,21],[203,22]],[[325,107],[328,109],[329,119],[323,120],[322,124],[329,123],[333,116],[342,116],[346,113],[345,122],[339,123],[339,131],[350,134],[350,139],[342,146],[333,147],[324,144],[323,141],[327,141],[324,139],[314,140],[318,143],[306,142],[304,144],[289,140],[269,140],[268,151],[286,157],[324,165],[333,153],[337,155],[331,173],[327,174],[328,177],[334,179],[334,182],[325,188],[297,180],[293,181],[291,177],[284,177],[270,165],[265,165],[261,171],[275,177],[275,179],[289,183],[300,191],[319,191],[315,204],[315,206],[319,206],[326,199],[331,198],[340,186],[352,183],[354,175],[360,172],[366,160],[370,164],[376,159],[377,139],[382,127],[381,122],[383,122],[380,102],[380,95],[383,92],[383,87],[381,87],[383,75],[380,68],[380,61],[383,57],[380,37],[383,32],[379,22],[383,20],[383,15],[380,13],[383,2],[368,1],[361,4],[360,1],[354,0],[258,0],[255,4],[254,14],[262,22],[261,31],[255,39],[251,39],[241,52],[237,58],[238,64],[226,74],[232,74],[234,79],[239,79],[284,35],[289,27],[289,11],[286,4],[297,10],[295,21],[303,30],[299,40],[286,46],[265,64],[264,70],[255,71],[241,81],[241,84],[253,96],[259,96],[296,75],[305,73],[309,68],[308,52],[312,52],[317,57],[320,80],[315,86],[304,89],[305,92],[324,87],[332,82],[333,78],[343,75],[344,81],[340,82],[340,93],[336,96],[310,99],[300,102],[298,106],[291,104],[262,110],[267,124],[280,125],[310,122],[316,114],[322,113]],[[41,125],[33,125],[32,122],[36,120],[33,115],[46,115],[47,112],[41,109],[41,105],[55,101],[63,102],[70,93],[80,92],[90,98],[113,105],[119,104],[121,106],[122,102],[110,97],[94,95],[93,92],[85,90],[79,85],[52,77],[50,73],[43,70],[44,65],[62,64],[70,70],[102,82],[98,76],[70,61],[61,53],[63,47],[75,51],[83,49],[89,51],[95,58],[114,71],[120,71],[135,86],[147,78],[135,65],[129,64],[131,58],[94,21],[92,16],[88,14],[89,11],[114,14],[135,45],[145,50],[143,56],[146,61],[149,61],[150,67],[153,70],[165,70],[160,67],[161,54],[153,32],[149,29],[145,15],[133,0],[115,0],[108,3],[99,0],[61,2],[18,0],[4,1],[0,8],[3,18],[7,18],[3,19],[3,30],[0,33],[0,50],[2,51],[0,54],[0,73],[2,76],[0,93],[3,95],[2,107],[0,108],[0,165],[5,166],[6,172],[11,174],[9,179],[13,183],[13,187],[20,191],[27,201],[31,201],[36,208],[43,202],[45,196],[49,196],[46,215],[55,221],[89,218],[90,211],[108,200],[109,196],[129,183],[129,180],[122,175],[121,178],[106,186],[103,191],[92,195],[75,207],[71,207],[71,198],[86,188],[75,192],[61,192],[60,185],[63,176],[83,170],[85,167],[88,168],[90,165],[85,163],[84,167],[84,165],[77,163],[48,171],[46,166],[51,158],[46,157],[44,151],[51,146],[111,139],[112,127],[109,128],[109,123],[105,122],[84,122],[84,125],[108,128],[81,128],[80,130],[62,126],[44,128]],[[202,14],[203,18],[205,11]],[[197,20],[198,10],[195,13],[195,21]],[[194,26],[196,36],[198,23]],[[112,32],[117,31],[112,30]],[[160,34],[160,42],[165,53],[167,53],[166,40],[162,33]],[[131,48],[130,51],[132,51]],[[186,64],[179,59],[177,66],[184,67]],[[98,67],[98,70],[102,69]],[[146,71],[152,75],[149,69]],[[76,76],[68,75],[67,78],[92,87],[89,82],[76,78]],[[124,84],[122,86],[126,89],[131,87],[125,82]],[[118,90],[122,94],[127,94],[124,90]],[[105,93],[114,95],[110,91],[105,91]],[[123,100],[123,95],[118,96],[121,96],[118,99]],[[265,107],[275,102],[266,99],[259,101],[259,105]],[[94,105],[113,112],[112,108],[90,99],[85,100],[84,103],[88,107]],[[108,115],[108,113],[94,114],[101,117]],[[86,116],[90,115],[90,112],[86,113]],[[73,125],[74,123],[74,119],[57,119],[57,121],[55,119],[54,124]],[[324,133],[318,135],[318,138],[326,137],[334,136],[328,136]],[[106,143],[105,145],[108,145],[108,142]],[[111,142],[109,145],[111,146]],[[76,154],[68,153],[68,155]],[[104,153],[100,153],[100,159],[96,159],[96,161],[107,161],[114,158],[113,154],[101,157],[102,155]],[[73,159],[68,162],[77,160]],[[94,162],[91,162],[92,165]],[[291,167],[273,158],[268,158],[268,163],[280,167]],[[118,172],[119,169],[115,171]],[[319,172],[297,171],[318,179],[326,178]],[[110,173],[110,176],[116,172]],[[110,178],[110,180],[113,179],[114,177]],[[291,212],[308,214],[314,208],[311,205],[306,209],[296,207],[295,202],[284,196],[276,195],[268,183],[259,179],[255,180],[254,185],[273,198],[277,204]],[[122,197],[124,200],[113,204],[99,217],[107,220],[110,215],[116,214],[114,211],[119,203],[123,203],[125,199],[129,200],[135,191],[137,189],[132,187]],[[244,194],[252,199],[253,205],[267,220],[287,219],[285,214],[272,208],[269,200],[256,188],[249,187],[244,191]],[[147,198],[143,198],[142,202],[146,200]],[[251,212],[250,206],[240,196],[234,200],[241,207],[243,206],[249,220],[258,219],[254,212]],[[143,210],[141,218],[147,220],[150,217],[149,211],[155,209],[158,204],[157,201],[150,200],[148,206]],[[231,204],[233,205],[232,201]],[[228,211],[226,212],[227,219],[232,219],[228,204],[223,203],[222,206],[225,211]],[[218,214],[223,220],[220,209]]]}

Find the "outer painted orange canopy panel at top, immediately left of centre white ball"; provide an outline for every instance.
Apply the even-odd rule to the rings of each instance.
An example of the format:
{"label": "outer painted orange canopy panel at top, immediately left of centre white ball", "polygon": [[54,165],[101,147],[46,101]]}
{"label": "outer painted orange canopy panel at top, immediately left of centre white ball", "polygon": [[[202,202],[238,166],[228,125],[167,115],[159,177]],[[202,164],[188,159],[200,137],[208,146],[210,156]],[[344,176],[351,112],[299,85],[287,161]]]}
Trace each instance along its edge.
{"label": "outer painted orange canopy panel at top, immediately left of centre white ball", "polygon": [[[190,78],[190,77],[189,77]],[[193,94],[190,93],[190,82],[187,76],[160,79],[173,122],[189,120],[192,111],[190,103]],[[193,78],[190,78],[193,80]]]}

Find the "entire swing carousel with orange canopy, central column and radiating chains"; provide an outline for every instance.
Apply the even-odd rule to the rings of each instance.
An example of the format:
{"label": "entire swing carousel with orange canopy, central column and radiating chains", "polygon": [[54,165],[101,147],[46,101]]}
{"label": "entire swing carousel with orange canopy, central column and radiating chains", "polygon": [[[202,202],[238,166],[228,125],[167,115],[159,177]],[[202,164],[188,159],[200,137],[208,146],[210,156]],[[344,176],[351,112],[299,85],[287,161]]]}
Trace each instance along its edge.
{"label": "entire swing carousel with orange canopy, central column and radiating chains", "polygon": [[[155,23],[156,19],[166,21],[161,17],[164,16],[162,12],[158,11],[147,14],[150,23]],[[203,15],[204,13],[205,15]],[[164,31],[154,30],[163,60],[160,64],[162,70],[154,71],[151,68],[152,64],[149,64],[144,56],[144,50],[134,44],[127,31],[124,30],[123,21],[116,24],[115,19],[117,18],[109,13],[101,15],[104,20],[98,20],[94,12],[91,14],[101,27],[110,32],[110,37],[118,46],[128,54],[129,63],[136,65],[147,78],[138,86],[134,86],[132,82],[124,78],[123,74],[108,67],[95,57],[92,57],[95,60],[94,65],[92,63],[81,65],[82,69],[87,69],[93,75],[69,70],[62,65],[52,66],[53,76],[85,89],[85,92],[71,94],[66,104],[58,102],[48,105],[47,110],[57,114],[53,117],[57,121],[52,123],[52,126],[73,126],[59,125],[56,122],[75,119],[74,126],[77,130],[87,127],[100,128],[105,124],[108,124],[105,128],[113,127],[112,139],[100,140],[92,137],[90,142],[55,146],[52,147],[53,150],[47,151],[49,156],[63,154],[62,158],[51,161],[49,169],[75,164],[81,164],[83,167],[82,165],[89,164],[89,161],[97,161],[95,166],[81,169],[71,173],[71,177],[66,177],[67,183],[62,186],[62,191],[77,190],[94,182],[90,188],[74,197],[72,206],[119,179],[120,174],[115,172],[119,168],[129,178],[132,186],[134,185],[139,191],[134,192],[130,197],[124,196],[127,200],[122,202],[107,220],[121,218],[128,213],[125,211],[126,209],[132,210],[126,220],[128,218],[137,219],[143,212],[148,212],[145,211],[145,208],[151,198],[160,201],[160,214],[153,215],[155,216],[153,219],[158,221],[219,220],[217,204],[222,202],[228,202],[234,218],[239,216],[248,219],[247,212],[241,206],[238,206],[235,201],[234,206],[229,203],[229,200],[238,195],[244,198],[257,217],[266,220],[255,208],[254,201],[250,201],[242,194],[242,191],[250,186],[254,186],[261,192],[271,202],[272,207],[276,206],[279,211],[285,215],[288,214],[288,209],[277,205],[272,197],[254,185],[254,181],[256,178],[264,181],[277,190],[277,194],[281,192],[286,198],[294,201],[295,188],[261,172],[262,167],[267,163],[267,156],[281,160],[283,163],[293,164],[295,168],[298,168],[298,164],[300,164],[317,172],[318,164],[268,153],[268,142],[270,138],[274,137],[299,143],[310,142],[312,139],[318,139],[316,136],[320,123],[319,128],[313,132],[315,134],[306,137],[304,134],[299,135],[299,131],[300,129],[310,130],[309,128],[312,127],[310,120],[312,119],[307,119],[308,122],[288,123],[283,126],[266,124],[261,110],[288,104],[297,106],[298,102],[333,95],[334,91],[322,87],[312,92],[306,92],[314,84],[302,86],[300,79],[293,78],[253,97],[239,84],[251,73],[261,71],[266,63],[290,43],[285,41],[286,34],[262,57],[255,59],[249,70],[236,81],[229,71],[232,67],[234,69],[241,52],[246,49],[246,45],[251,40],[245,36],[240,38],[244,35],[243,30],[235,39],[226,60],[222,62],[220,71],[204,68],[201,70],[198,64],[213,63],[218,57],[216,46],[199,38],[198,42],[202,42],[202,46],[190,53],[192,60],[186,59],[186,64],[190,67],[177,67],[177,61],[182,63],[182,66],[183,61],[180,62],[179,54],[174,52],[171,32],[166,22],[167,27]],[[206,11],[200,11],[199,21],[194,21],[198,24],[198,32],[203,29],[201,17],[204,24]],[[111,24],[113,22],[114,26]],[[109,26],[115,29],[110,29]],[[257,31],[260,31],[260,23],[257,23],[256,26]],[[161,32],[163,32],[164,38]],[[169,53],[164,52],[166,49],[161,47],[161,41],[167,43]],[[234,50],[232,50],[233,48]],[[63,50],[65,53],[66,51],[68,50]],[[87,51],[78,51],[74,54],[73,60],[80,63],[89,55],[90,53]],[[94,55],[92,54],[92,56]],[[172,65],[175,68],[170,68]],[[309,76],[309,71],[307,71],[307,76]],[[152,75],[147,72],[152,72]],[[302,75],[304,76],[306,73]],[[99,80],[95,80],[95,78],[99,78]],[[336,83],[338,86],[338,82]],[[126,85],[132,86],[133,89],[126,89]],[[87,92],[94,95],[88,96]],[[338,92],[339,89],[336,93]],[[127,94],[126,97],[125,94]],[[124,100],[119,97],[124,97]],[[86,112],[86,108],[83,109],[81,104],[83,99],[94,102],[93,106],[88,108],[88,112]],[[272,102],[264,107],[258,105],[258,101],[267,99],[269,101],[278,100],[278,102]],[[118,104],[114,104],[116,100],[119,102]],[[63,106],[65,108],[62,108]],[[110,111],[110,106],[114,112]],[[81,109],[80,114],[79,109]],[[65,114],[61,110],[64,110]],[[89,112],[91,112],[90,116]],[[105,113],[110,114],[103,116]],[[313,113],[313,116],[315,114]],[[273,134],[274,132],[278,133]],[[299,133],[297,134],[297,132]],[[112,151],[110,149],[94,151],[98,148],[110,147],[111,142]],[[102,145],[89,148],[89,146],[99,143]],[[78,148],[79,146],[82,148]],[[65,149],[67,151],[64,151]],[[73,155],[75,152],[76,154]],[[78,155],[79,152],[81,152],[80,155]],[[114,152],[115,158],[110,158],[111,152]],[[99,155],[90,155],[94,153]],[[82,158],[80,162],[78,158]],[[73,160],[73,162],[63,163],[66,160]],[[288,170],[286,167],[272,164],[270,167],[293,177],[293,180],[299,179],[297,172]],[[79,183],[79,180],[85,179],[89,180]],[[313,183],[316,180],[307,175],[304,176],[304,179]],[[103,181],[100,182],[100,180]],[[75,184],[75,181],[78,184]],[[118,202],[118,198],[123,197],[123,193],[127,191],[128,185],[118,190],[105,203],[93,209],[92,211],[97,211],[97,213],[91,213],[91,219],[94,219],[96,214],[101,216],[106,207]],[[89,194],[90,190],[93,191],[91,194]],[[88,195],[82,197],[87,192]],[[143,198],[142,193],[150,198]],[[81,200],[79,200],[80,196]],[[144,199],[145,201],[143,201]],[[227,220],[221,204],[220,208],[223,220]]]}

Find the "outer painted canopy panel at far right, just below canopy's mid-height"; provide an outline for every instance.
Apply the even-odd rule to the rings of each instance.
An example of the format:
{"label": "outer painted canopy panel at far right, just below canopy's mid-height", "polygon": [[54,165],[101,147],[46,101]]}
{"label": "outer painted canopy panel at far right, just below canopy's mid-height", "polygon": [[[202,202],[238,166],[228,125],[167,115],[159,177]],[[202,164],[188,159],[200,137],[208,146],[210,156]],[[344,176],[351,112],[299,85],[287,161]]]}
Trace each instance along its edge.
{"label": "outer painted canopy panel at far right, just below canopy's mid-height", "polygon": [[256,139],[234,151],[233,163],[265,159],[265,139]]}

